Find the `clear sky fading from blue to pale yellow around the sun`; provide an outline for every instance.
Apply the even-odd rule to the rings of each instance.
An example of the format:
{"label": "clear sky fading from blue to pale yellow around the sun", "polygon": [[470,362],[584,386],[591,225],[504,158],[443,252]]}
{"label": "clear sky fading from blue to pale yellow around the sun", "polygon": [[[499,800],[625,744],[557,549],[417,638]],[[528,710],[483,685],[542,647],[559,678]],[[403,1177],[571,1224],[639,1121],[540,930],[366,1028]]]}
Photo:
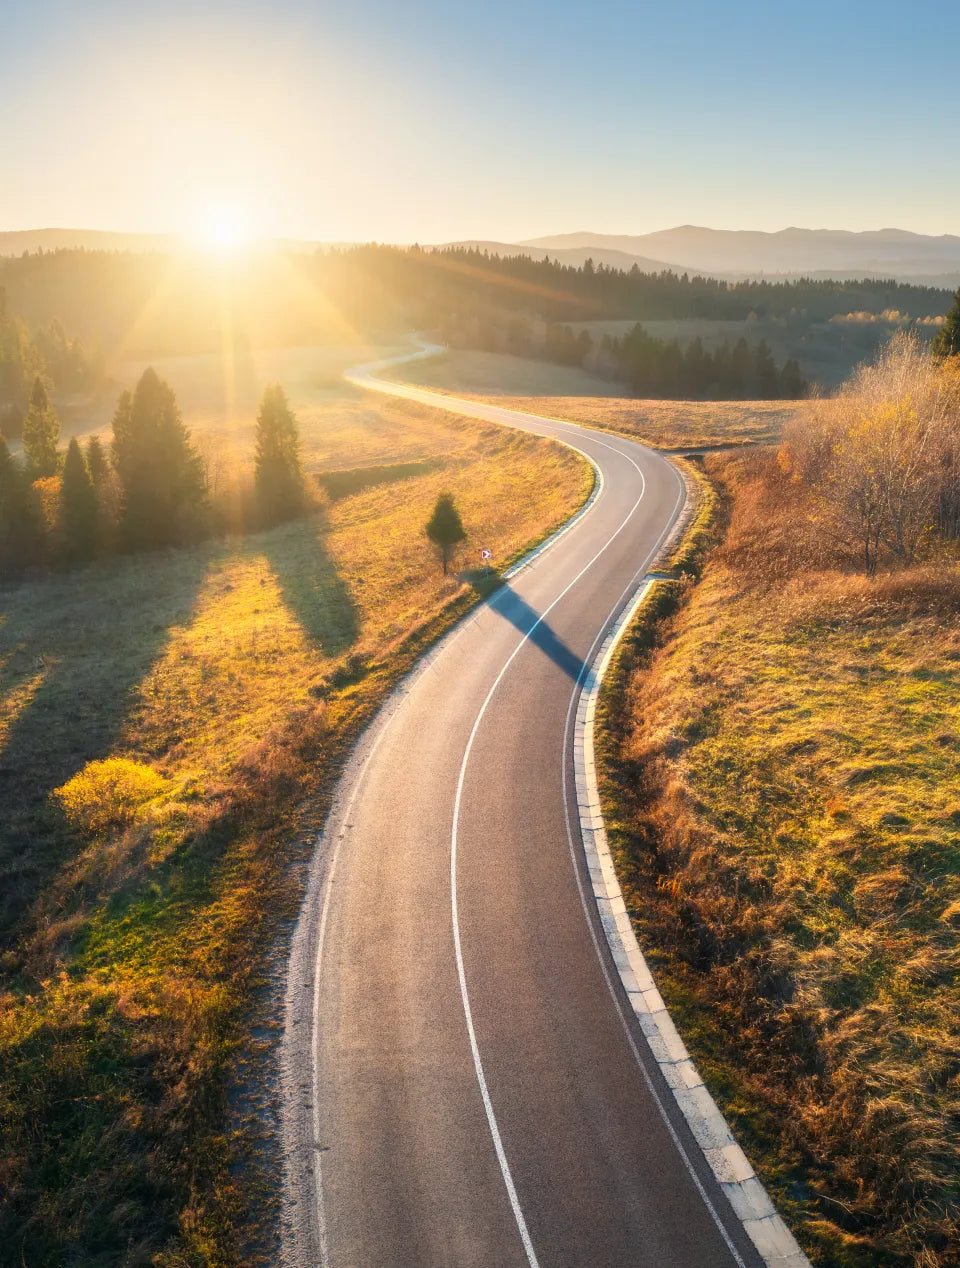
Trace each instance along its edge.
{"label": "clear sky fading from blue to pale yellow around the sun", "polygon": [[0,0],[0,230],[960,233],[960,4]]}

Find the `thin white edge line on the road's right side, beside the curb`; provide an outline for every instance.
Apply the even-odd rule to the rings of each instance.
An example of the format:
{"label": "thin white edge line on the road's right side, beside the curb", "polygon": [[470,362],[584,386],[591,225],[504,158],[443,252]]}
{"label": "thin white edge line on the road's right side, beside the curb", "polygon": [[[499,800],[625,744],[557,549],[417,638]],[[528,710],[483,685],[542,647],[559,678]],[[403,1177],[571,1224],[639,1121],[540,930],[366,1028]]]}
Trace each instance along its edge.
{"label": "thin white edge line on the road's right side, beside the curb", "polygon": [[[677,474],[677,479],[680,479],[678,474]],[[573,829],[571,827],[571,818],[569,818],[569,794],[568,794],[569,785],[568,785],[568,780],[567,780],[567,754],[569,752],[571,720],[573,718],[573,711],[574,711],[574,708],[576,708],[577,697],[580,695],[580,690],[581,690],[581,686],[583,683],[583,678],[586,677],[587,673],[590,673],[590,671],[591,671],[591,668],[594,666],[594,658],[596,656],[596,649],[602,643],[602,640],[606,638],[606,633],[610,629],[610,623],[613,621],[613,619],[615,618],[615,615],[618,614],[618,611],[621,609],[621,606],[624,605],[624,602],[628,600],[628,596],[630,595],[630,592],[632,591],[635,592],[639,588],[637,586],[638,577],[643,577],[644,576],[647,568],[649,567],[651,560],[656,558],[657,552],[663,545],[663,541],[666,540],[670,530],[672,529],[673,524],[676,522],[677,507],[680,507],[682,505],[684,493],[685,493],[685,488],[684,488],[682,481],[680,481],[680,486],[681,486],[680,487],[680,493],[677,496],[676,506],[673,507],[673,512],[672,512],[672,516],[671,516],[671,522],[663,530],[663,533],[662,533],[662,535],[659,538],[659,541],[653,548],[653,550],[649,552],[649,554],[644,559],[644,562],[640,566],[640,568],[637,569],[637,572],[634,573],[633,578],[630,579],[630,583],[626,586],[626,588],[623,591],[623,593],[620,595],[620,597],[618,598],[618,601],[610,609],[610,612],[609,612],[606,620],[604,621],[604,625],[602,625],[600,633],[594,639],[594,643],[592,643],[592,645],[590,648],[590,652],[583,658],[583,667],[581,668],[580,676],[578,676],[577,681],[573,685],[573,690],[571,691],[569,705],[567,708],[567,720],[566,720],[564,728],[563,728],[563,749],[562,749],[562,757],[561,757],[561,785],[562,785],[562,789],[563,789],[563,817],[564,817],[564,822],[566,822],[566,827],[567,827],[567,844],[569,847],[571,862],[573,864],[573,877],[574,877],[576,884],[577,884],[577,894],[580,895],[580,904],[581,904],[581,908],[583,909],[583,917],[585,917],[585,919],[587,922],[587,929],[590,931],[590,940],[594,943],[594,950],[596,951],[597,959],[600,961],[600,969],[601,969],[601,971],[604,974],[604,981],[606,983],[606,989],[610,993],[610,998],[614,1002],[614,1008],[616,1009],[616,1016],[620,1018],[620,1023],[621,1023],[621,1026],[624,1028],[624,1032],[626,1035],[626,1042],[629,1045],[630,1052],[633,1054],[633,1058],[634,1058],[637,1065],[640,1069],[640,1074],[643,1075],[643,1080],[644,1080],[644,1083],[647,1085],[647,1090],[649,1092],[649,1094],[651,1094],[651,1097],[653,1099],[653,1103],[657,1106],[657,1110],[659,1111],[659,1116],[663,1120],[663,1123],[665,1123],[665,1126],[667,1129],[667,1132],[670,1134],[670,1137],[673,1141],[673,1145],[676,1146],[676,1150],[680,1154],[680,1158],[681,1158],[684,1165],[686,1167],[686,1170],[689,1172],[689,1174],[690,1174],[694,1184],[696,1186],[696,1191],[699,1192],[700,1197],[703,1198],[704,1205],[705,1205],[706,1210],[709,1211],[709,1213],[710,1213],[710,1216],[713,1219],[713,1222],[717,1225],[717,1229],[719,1230],[720,1236],[723,1238],[723,1240],[724,1240],[724,1243],[727,1245],[727,1249],[730,1252],[730,1255],[733,1257],[733,1260],[738,1265],[738,1268],[747,1268],[747,1265],[746,1265],[746,1263],[744,1263],[744,1260],[743,1260],[739,1250],[737,1250],[737,1246],[733,1244],[733,1241],[730,1239],[730,1235],[727,1231],[727,1227],[724,1226],[723,1220],[720,1219],[720,1215],[719,1215],[717,1207],[714,1206],[714,1203],[713,1203],[713,1201],[710,1198],[710,1194],[706,1192],[706,1189],[704,1188],[704,1184],[703,1184],[700,1177],[696,1174],[696,1168],[694,1167],[694,1164],[692,1164],[692,1161],[690,1159],[690,1155],[686,1151],[686,1146],[684,1145],[684,1141],[680,1139],[676,1129],[673,1127],[673,1123],[670,1121],[670,1116],[667,1115],[666,1106],[663,1104],[663,1101],[661,1099],[659,1092],[657,1090],[657,1087],[656,1087],[656,1084],[653,1083],[653,1079],[649,1075],[649,1070],[647,1069],[647,1066],[645,1066],[645,1064],[643,1061],[643,1058],[640,1056],[640,1052],[639,1052],[639,1050],[637,1047],[637,1042],[634,1040],[633,1031],[630,1030],[629,1021],[628,1021],[626,1016],[624,1014],[624,1009],[623,1009],[623,1004],[621,1004],[620,997],[616,993],[616,988],[615,988],[615,985],[614,985],[614,983],[611,980],[611,976],[610,976],[610,970],[607,967],[607,962],[606,962],[606,960],[604,957],[604,952],[602,952],[600,942],[597,940],[596,929],[594,927],[594,921],[591,919],[591,907],[590,907],[590,904],[587,902],[586,893],[583,891],[583,881],[581,879],[581,870],[580,870],[580,866],[578,866],[577,851],[576,851],[576,846],[573,843]],[[595,907],[594,907],[594,909],[595,909]]]}

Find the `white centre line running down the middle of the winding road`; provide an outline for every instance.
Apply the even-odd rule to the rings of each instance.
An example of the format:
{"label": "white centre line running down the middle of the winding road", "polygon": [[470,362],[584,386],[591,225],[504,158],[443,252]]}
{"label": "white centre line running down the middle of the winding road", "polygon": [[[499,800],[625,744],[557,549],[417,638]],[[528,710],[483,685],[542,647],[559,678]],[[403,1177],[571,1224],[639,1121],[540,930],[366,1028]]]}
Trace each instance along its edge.
{"label": "white centre line running down the middle of the winding road", "polygon": [[[618,450],[618,453],[620,453],[620,451]],[[519,1201],[517,1194],[516,1194],[516,1187],[514,1184],[514,1177],[512,1177],[512,1174],[510,1172],[510,1164],[507,1161],[507,1156],[506,1156],[506,1153],[503,1150],[503,1142],[502,1142],[502,1139],[501,1139],[501,1135],[500,1135],[500,1127],[497,1126],[497,1117],[496,1117],[496,1115],[493,1112],[493,1104],[492,1104],[491,1098],[490,1098],[490,1090],[488,1090],[488,1087],[487,1087],[487,1078],[486,1078],[486,1075],[483,1073],[483,1063],[481,1060],[481,1054],[479,1054],[479,1045],[477,1044],[477,1032],[476,1032],[474,1026],[473,1026],[473,1011],[470,1008],[469,993],[467,990],[467,973],[465,973],[464,962],[463,962],[463,946],[462,946],[462,941],[460,941],[459,905],[458,905],[458,891],[457,891],[457,847],[458,847],[458,829],[459,829],[459,820],[460,820],[460,803],[463,800],[463,786],[464,786],[464,781],[467,779],[467,766],[468,766],[469,760],[470,760],[470,752],[473,749],[473,743],[474,743],[474,741],[477,738],[477,732],[479,730],[479,725],[483,721],[483,715],[486,714],[487,708],[488,708],[491,700],[493,699],[493,695],[496,694],[497,687],[502,682],[503,676],[506,675],[507,670],[514,663],[514,661],[519,656],[520,650],[522,649],[522,647],[528,643],[528,640],[530,639],[530,635],[534,633],[534,630],[538,628],[538,625],[543,624],[543,621],[549,616],[549,614],[553,611],[553,609],[557,606],[557,604],[559,604],[559,601],[564,597],[564,595],[567,595],[573,588],[573,586],[576,586],[576,583],[580,581],[580,578],[586,572],[588,572],[594,567],[594,564],[597,562],[597,559],[604,554],[604,552],[610,548],[610,545],[616,540],[616,538],[623,533],[623,530],[630,522],[630,520],[633,519],[633,516],[634,516],[634,514],[637,511],[637,507],[643,501],[643,495],[647,492],[647,481],[645,481],[645,477],[644,477],[643,472],[637,465],[637,463],[633,460],[633,458],[630,458],[629,454],[623,454],[621,453],[620,456],[625,458],[626,462],[630,463],[630,465],[634,468],[634,470],[640,477],[640,495],[637,498],[637,501],[633,503],[633,506],[630,507],[630,510],[626,512],[626,515],[624,516],[623,522],[619,525],[619,527],[606,539],[606,541],[597,550],[597,553],[586,564],[583,564],[583,567],[580,569],[580,572],[576,574],[576,577],[573,577],[573,579],[569,581],[563,587],[563,590],[559,592],[559,595],[557,595],[557,597],[543,610],[543,612],[540,612],[540,615],[533,623],[533,625],[530,626],[530,629],[524,634],[524,637],[516,644],[516,647],[510,653],[510,656],[507,657],[507,659],[503,662],[503,666],[500,670],[500,673],[493,680],[493,683],[492,683],[490,691],[487,692],[486,699],[483,700],[483,704],[479,708],[479,713],[477,714],[477,718],[474,719],[473,728],[470,729],[470,734],[469,734],[469,738],[467,741],[467,747],[465,747],[464,753],[463,753],[463,761],[460,762],[460,773],[459,773],[459,777],[457,780],[457,795],[454,798],[453,828],[451,828],[451,832],[450,832],[450,917],[451,917],[451,922],[453,922],[454,954],[455,954],[455,959],[457,959],[457,976],[458,976],[459,983],[460,983],[460,999],[462,999],[462,1003],[463,1003],[463,1014],[464,1014],[464,1018],[467,1021],[467,1032],[469,1035],[470,1052],[473,1055],[473,1069],[474,1069],[474,1073],[477,1075],[477,1083],[479,1085],[481,1098],[483,1101],[483,1110],[484,1110],[484,1113],[487,1116],[487,1126],[490,1127],[490,1134],[491,1134],[491,1137],[493,1139],[493,1148],[495,1148],[496,1154],[497,1154],[497,1161],[500,1163],[500,1172],[501,1172],[501,1175],[503,1178],[503,1184],[506,1187],[507,1196],[510,1198],[510,1206],[512,1207],[512,1211],[514,1211],[514,1219],[516,1220],[517,1231],[520,1232],[520,1240],[524,1244],[524,1250],[526,1252],[526,1259],[528,1259],[528,1263],[530,1264],[530,1268],[538,1268],[536,1254],[534,1252],[533,1243],[530,1240],[530,1232],[529,1232],[529,1230],[526,1227],[526,1220],[524,1219],[524,1212],[522,1212],[522,1210],[520,1207],[520,1201]],[[668,527],[672,527],[672,521],[668,525]],[[663,534],[663,536],[666,536],[666,533]],[[657,544],[657,548],[659,549],[659,543]]]}

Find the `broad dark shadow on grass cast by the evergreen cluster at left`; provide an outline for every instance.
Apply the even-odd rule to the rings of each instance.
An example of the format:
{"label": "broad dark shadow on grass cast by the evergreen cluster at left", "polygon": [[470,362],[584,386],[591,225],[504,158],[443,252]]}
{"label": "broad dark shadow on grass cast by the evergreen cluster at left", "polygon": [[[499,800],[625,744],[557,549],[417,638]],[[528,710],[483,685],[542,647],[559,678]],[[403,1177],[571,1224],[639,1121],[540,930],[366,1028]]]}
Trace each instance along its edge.
{"label": "broad dark shadow on grass cast by the evergreen cluster at left", "polygon": [[[6,686],[38,685],[0,743],[0,945],[76,848],[49,794],[108,756],[222,544],[107,560],[0,591]],[[118,634],[118,631],[120,631]]]}

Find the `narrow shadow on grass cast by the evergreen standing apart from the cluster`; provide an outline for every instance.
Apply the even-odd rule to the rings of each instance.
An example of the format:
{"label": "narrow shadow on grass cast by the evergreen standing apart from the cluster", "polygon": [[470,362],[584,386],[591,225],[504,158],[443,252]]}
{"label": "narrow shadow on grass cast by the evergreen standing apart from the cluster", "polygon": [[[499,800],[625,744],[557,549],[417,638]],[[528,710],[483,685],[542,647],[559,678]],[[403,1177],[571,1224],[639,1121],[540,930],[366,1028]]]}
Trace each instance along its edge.
{"label": "narrow shadow on grass cast by the evergreen standing apart from the cluster", "polygon": [[326,549],[322,515],[261,534],[251,549],[266,557],[283,601],[323,656],[347,652],[360,633],[360,614]]}

